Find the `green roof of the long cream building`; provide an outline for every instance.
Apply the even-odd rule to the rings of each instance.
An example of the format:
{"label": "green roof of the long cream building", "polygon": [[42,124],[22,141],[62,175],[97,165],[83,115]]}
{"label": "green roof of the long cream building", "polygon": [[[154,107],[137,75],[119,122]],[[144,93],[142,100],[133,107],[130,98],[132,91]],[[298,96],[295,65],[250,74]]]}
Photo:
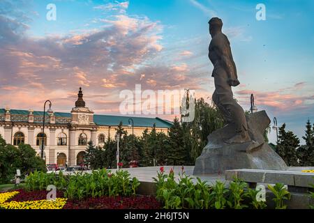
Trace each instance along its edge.
{"label": "green roof of the long cream building", "polygon": [[[4,114],[6,109],[0,109],[0,114]],[[10,113],[13,115],[25,115],[29,114],[27,110],[17,110],[17,109],[10,109]],[[43,112],[33,112],[34,116],[43,116]],[[47,112],[45,114],[48,115]],[[65,117],[70,118],[71,114],[66,112],[54,112],[54,116],[56,117]],[[110,125],[110,126],[117,126],[120,122],[123,125],[128,125],[129,118],[133,119],[135,127],[153,127],[155,124],[157,128],[171,128],[172,122],[163,120],[161,118],[142,118],[142,117],[131,117],[131,116],[110,116],[110,115],[98,115],[94,114],[94,123],[96,125]]]}

